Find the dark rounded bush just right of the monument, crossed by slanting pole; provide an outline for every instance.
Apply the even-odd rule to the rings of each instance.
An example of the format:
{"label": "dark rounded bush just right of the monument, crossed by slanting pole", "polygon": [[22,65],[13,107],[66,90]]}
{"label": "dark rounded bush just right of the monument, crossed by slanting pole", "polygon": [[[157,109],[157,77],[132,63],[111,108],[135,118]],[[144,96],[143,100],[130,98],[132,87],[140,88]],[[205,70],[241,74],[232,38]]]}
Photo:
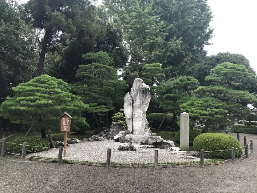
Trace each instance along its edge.
{"label": "dark rounded bush just right of the monument, crossed by slanting pole", "polygon": [[[165,113],[152,113],[152,114],[146,115],[146,119],[148,120],[148,123],[153,128],[158,129],[164,116],[165,116]],[[167,125],[171,126],[172,118],[173,118],[173,115],[167,115],[162,123],[162,128],[167,127]]]}

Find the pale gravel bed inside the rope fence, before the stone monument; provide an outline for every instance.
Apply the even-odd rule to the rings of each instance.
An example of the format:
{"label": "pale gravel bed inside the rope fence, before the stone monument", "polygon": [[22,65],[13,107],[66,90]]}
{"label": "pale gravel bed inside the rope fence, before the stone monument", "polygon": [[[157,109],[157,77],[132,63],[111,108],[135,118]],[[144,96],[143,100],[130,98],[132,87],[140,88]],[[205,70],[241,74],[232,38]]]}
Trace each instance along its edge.
{"label": "pale gravel bed inside the rope fence, before the stone monument", "polygon": [[[143,149],[140,145],[135,145],[136,151],[118,151],[117,148],[123,143],[113,140],[95,141],[70,144],[67,147],[67,156],[63,159],[88,161],[88,162],[106,162],[107,148],[111,148],[111,162],[114,163],[154,163],[154,150],[158,150],[159,163],[167,162],[185,162],[185,161],[200,161],[200,158],[184,159],[178,158],[166,149],[150,148]],[[49,149],[29,154],[29,156],[38,156],[43,158],[58,157],[59,149]]]}

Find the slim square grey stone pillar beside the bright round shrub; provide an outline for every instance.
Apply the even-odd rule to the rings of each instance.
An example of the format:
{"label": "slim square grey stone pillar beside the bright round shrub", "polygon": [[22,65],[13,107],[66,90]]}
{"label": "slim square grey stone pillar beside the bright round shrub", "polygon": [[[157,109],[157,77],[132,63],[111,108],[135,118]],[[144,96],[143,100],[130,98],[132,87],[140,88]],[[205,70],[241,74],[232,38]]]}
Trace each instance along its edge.
{"label": "slim square grey stone pillar beside the bright round shrub", "polygon": [[180,149],[189,150],[189,114],[180,113]]}

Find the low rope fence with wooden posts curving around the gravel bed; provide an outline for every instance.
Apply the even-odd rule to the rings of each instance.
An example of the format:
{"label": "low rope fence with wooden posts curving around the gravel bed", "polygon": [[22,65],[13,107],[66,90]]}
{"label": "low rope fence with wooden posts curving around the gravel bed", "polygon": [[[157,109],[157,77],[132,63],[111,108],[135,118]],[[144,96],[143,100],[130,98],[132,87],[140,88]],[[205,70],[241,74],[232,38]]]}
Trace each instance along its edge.
{"label": "low rope fence with wooden posts curving around the gravel bed", "polygon": [[[227,132],[229,133],[229,132]],[[242,136],[239,135],[237,133],[237,137]],[[243,147],[238,147],[238,148],[234,148],[231,147],[231,149],[225,149],[225,150],[214,150],[214,151],[204,151],[204,149],[201,149],[200,151],[192,151],[192,153],[200,153],[200,166],[201,168],[204,167],[204,163],[217,163],[217,162],[222,162],[222,161],[217,161],[217,162],[204,162],[204,153],[209,153],[209,152],[218,152],[218,151],[231,151],[231,159],[229,160],[224,160],[224,161],[231,161],[232,163],[235,162],[235,160],[240,159],[242,157],[248,158],[248,154],[253,152],[253,141],[250,139],[247,139],[246,136],[244,135],[244,146]],[[250,143],[247,144],[246,141],[249,140]],[[238,138],[238,141],[239,138]],[[18,143],[10,143],[10,142],[6,142],[5,140],[0,140],[0,142],[2,143],[2,151],[1,151],[1,155],[4,156],[5,153],[9,153],[12,155],[21,155],[21,159],[22,161],[26,160],[26,147],[40,147],[40,148],[47,148],[47,149],[56,149],[56,148],[51,148],[51,147],[41,147],[41,146],[33,146],[33,145],[27,145],[27,143],[23,143],[23,144],[18,144]],[[241,141],[240,141],[241,142]],[[15,144],[15,145],[21,145],[22,146],[22,154],[15,154],[15,153],[11,153],[8,151],[5,151],[5,143],[8,144]],[[250,151],[248,151],[249,149],[249,145],[250,145]],[[245,155],[242,155],[239,158],[235,158],[235,150],[240,149],[240,148],[244,148],[245,149]],[[50,158],[43,158],[43,157],[35,157],[35,156],[30,156],[32,158],[41,158],[41,159],[48,159],[48,160],[54,160],[57,161],[57,165],[60,166],[62,161],[73,161],[73,162],[87,162],[87,161],[79,161],[79,160],[65,160],[62,159],[62,155],[63,155],[63,150],[68,150],[68,151],[94,151],[95,150],[73,150],[73,149],[64,149],[63,147],[59,147],[59,153],[58,153],[58,159],[50,159]],[[107,151],[106,150],[99,150],[101,152],[107,152],[107,157],[106,157],[106,167],[109,168],[110,164],[111,164],[111,152],[119,152],[119,153],[127,153],[127,151],[111,151],[111,148],[108,148]],[[154,168],[158,168],[160,165],[167,165],[167,164],[159,164],[158,163],[158,150],[154,150],[154,152],[136,152],[136,151],[130,151],[130,153],[147,153],[147,154],[154,154]],[[160,152],[161,154],[164,153],[173,153],[173,152]],[[88,162],[90,163],[90,162]],[[93,163],[100,163],[100,162],[93,162]],[[116,163],[119,164],[119,163]],[[120,163],[120,164],[129,164],[129,163]],[[142,163],[144,164],[144,163]],[[168,164],[168,165],[185,165],[185,164],[199,164],[199,163],[172,163],[172,164]]]}

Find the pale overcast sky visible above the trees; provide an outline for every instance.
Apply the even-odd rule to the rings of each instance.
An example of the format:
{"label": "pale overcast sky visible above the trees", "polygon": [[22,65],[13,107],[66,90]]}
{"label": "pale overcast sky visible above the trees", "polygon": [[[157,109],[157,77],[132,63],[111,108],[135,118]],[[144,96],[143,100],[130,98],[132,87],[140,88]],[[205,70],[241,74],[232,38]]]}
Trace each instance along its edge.
{"label": "pale overcast sky visible above the trees", "polygon": [[[24,2],[27,0],[20,0]],[[257,71],[257,0],[208,0],[208,5],[214,15],[211,26],[215,28],[212,45],[205,46],[208,55],[226,51],[243,54]]]}

